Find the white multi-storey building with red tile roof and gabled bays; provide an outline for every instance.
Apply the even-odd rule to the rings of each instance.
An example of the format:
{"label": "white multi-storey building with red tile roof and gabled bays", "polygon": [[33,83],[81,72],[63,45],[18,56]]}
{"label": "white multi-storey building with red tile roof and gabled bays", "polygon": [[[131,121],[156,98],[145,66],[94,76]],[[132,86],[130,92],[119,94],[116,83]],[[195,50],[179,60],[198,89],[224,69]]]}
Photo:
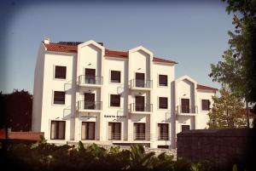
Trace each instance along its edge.
{"label": "white multi-storey building with red tile roof and gabled bays", "polygon": [[49,142],[175,147],[183,129],[207,128],[216,88],[175,79],[172,60],[139,46],[113,51],[92,40],[38,50],[32,131]]}

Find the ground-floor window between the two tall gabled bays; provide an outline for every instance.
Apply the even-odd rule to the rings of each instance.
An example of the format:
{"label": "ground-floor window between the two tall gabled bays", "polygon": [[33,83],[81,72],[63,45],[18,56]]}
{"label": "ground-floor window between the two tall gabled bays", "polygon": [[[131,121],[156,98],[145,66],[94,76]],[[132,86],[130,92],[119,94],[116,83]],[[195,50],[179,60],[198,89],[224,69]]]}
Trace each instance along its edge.
{"label": "ground-floor window between the two tall gabled bays", "polygon": [[121,123],[108,123],[108,140],[121,140]]}

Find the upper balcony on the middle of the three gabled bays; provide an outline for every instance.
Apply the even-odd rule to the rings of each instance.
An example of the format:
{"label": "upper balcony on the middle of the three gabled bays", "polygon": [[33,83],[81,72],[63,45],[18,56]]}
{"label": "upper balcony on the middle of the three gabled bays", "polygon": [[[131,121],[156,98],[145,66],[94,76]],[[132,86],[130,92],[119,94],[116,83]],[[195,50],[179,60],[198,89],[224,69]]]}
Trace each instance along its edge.
{"label": "upper balcony on the middle of the three gabled bays", "polygon": [[132,79],[130,80],[129,88],[134,90],[150,90],[152,88],[152,85],[152,80]]}

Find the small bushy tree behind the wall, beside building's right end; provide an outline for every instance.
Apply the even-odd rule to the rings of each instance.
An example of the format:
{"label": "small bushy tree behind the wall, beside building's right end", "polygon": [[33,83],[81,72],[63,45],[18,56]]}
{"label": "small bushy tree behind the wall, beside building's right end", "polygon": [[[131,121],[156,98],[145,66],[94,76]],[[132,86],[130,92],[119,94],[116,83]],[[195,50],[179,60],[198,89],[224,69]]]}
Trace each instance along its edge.
{"label": "small bushy tree behind the wall, beside building's right end", "polygon": [[209,128],[241,128],[247,125],[246,117],[241,115],[243,103],[230,94],[227,88],[219,90],[220,96],[213,96],[213,107],[209,111]]}

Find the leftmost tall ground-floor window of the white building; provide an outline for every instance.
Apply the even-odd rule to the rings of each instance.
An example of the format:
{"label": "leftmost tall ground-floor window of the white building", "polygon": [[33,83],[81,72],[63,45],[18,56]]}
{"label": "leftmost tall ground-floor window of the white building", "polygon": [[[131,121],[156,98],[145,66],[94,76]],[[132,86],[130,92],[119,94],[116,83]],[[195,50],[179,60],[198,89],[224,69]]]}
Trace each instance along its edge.
{"label": "leftmost tall ground-floor window of the white building", "polygon": [[50,139],[65,140],[65,121],[51,121]]}

